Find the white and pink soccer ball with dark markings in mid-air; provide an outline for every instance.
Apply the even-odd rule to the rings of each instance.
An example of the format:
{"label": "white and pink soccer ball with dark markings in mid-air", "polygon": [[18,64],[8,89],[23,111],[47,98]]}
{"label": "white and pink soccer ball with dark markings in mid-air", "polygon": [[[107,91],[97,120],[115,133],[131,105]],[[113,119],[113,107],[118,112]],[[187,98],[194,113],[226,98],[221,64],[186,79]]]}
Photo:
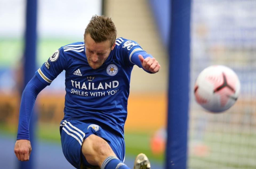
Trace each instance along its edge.
{"label": "white and pink soccer ball with dark markings in mid-air", "polygon": [[195,100],[210,112],[229,109],[237,101],[239,92],[240,82],[236,73],[223,65],[205,68],[194,86]]}

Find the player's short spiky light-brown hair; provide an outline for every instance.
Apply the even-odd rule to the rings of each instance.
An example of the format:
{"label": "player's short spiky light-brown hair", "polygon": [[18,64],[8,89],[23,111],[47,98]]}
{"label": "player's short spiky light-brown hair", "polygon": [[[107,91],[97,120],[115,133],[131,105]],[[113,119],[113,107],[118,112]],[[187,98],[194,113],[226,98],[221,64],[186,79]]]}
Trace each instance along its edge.
{"label": "player's short spiky light-brown hair", "polygon": [[111,18],[104,15],[94,15],[85,29],[85,35],[90,34],[91,38],[96,42],[109,40],[111,46],[117,38],[117,30]]}

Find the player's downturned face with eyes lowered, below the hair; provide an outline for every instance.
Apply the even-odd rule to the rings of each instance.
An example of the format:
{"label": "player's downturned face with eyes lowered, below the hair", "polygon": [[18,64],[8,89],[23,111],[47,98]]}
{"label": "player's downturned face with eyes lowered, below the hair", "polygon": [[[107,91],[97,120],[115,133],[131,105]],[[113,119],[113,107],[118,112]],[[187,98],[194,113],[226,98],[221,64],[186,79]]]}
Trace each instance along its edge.
{"label": "player's downturned face with eyes lowered, below the hair", "polygon": [[109,53],[114,49],[109,40],[96,43],[90,34],[85,35],[85,54],[91,68],[99,68],[109,57]]}

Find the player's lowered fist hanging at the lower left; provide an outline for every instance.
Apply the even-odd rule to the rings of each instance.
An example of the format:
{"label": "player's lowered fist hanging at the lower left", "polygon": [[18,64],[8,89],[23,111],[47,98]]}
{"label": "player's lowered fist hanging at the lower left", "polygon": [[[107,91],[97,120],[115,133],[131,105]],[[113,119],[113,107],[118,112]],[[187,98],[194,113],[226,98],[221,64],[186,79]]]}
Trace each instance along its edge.
{"label": "player's lowered fist hanging at the lower left", "polygon": [[31,151],[32,148],[29,140],[20,139],[16,141],[14,145],[14,153],[18,160],[28,161]]}

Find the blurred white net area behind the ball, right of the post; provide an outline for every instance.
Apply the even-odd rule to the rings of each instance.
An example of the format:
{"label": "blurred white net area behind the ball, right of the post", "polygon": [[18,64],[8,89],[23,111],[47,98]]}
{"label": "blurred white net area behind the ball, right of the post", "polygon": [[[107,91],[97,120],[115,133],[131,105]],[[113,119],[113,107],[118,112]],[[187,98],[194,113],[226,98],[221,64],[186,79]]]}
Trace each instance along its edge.
{"label": "blurred white net area behind the ball, right of the post", "polygon": [[[226,65],[241,82],[233,107],[214,114],[193,86],[210,65]],[[256,168],[256,1],[193,0],[188,168]]]}

